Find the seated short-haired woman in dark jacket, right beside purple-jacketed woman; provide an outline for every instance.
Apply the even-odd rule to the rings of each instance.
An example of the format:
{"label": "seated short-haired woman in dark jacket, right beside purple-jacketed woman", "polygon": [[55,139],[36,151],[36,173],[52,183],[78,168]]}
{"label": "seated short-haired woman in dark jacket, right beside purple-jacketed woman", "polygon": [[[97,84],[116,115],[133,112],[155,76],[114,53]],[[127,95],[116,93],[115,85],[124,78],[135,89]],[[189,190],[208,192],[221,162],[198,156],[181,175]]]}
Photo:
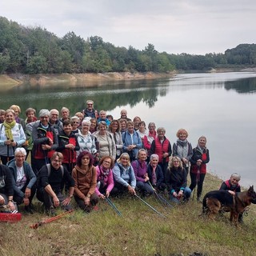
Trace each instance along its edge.
{"label": "seated short-haired woman in dark jacket, right beside purple-jacketed woman", "polygon": [[154,190],[164,191],[166,189],[166,183],[161,166],[158,165],[158,160],[159,157],[157,154],[150,155],[150,163],[147,166],[147,173]]}

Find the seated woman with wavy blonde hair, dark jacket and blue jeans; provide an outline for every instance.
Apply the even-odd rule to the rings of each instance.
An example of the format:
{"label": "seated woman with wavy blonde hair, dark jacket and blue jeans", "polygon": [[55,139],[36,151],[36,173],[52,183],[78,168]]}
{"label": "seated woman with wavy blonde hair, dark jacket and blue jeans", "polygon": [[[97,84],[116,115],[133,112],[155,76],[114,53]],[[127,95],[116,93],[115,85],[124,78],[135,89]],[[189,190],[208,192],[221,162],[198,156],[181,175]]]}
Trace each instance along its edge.
{"label": "seated woman with wavy blonde hair, dark jacket and blue jeans", "polygon": [[166,170],[166,185],[171,201],[180,203],[181,200],[183,202],[189,200],[191,190],[186,186],[186,170],[178,157],[173,157],[169,162]]}

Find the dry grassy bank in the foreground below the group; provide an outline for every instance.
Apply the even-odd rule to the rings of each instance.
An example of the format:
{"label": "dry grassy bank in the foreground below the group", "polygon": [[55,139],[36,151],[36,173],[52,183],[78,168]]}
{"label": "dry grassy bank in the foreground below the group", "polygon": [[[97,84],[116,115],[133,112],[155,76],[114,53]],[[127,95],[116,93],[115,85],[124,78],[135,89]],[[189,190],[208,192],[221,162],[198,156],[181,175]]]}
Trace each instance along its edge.
{"label": "dry grassy bank in the foreground below the group", "polygon": [[[204,192],[218,189],[221,182],[207,174]],[[42,213],[23,214],[14,224],[1,222],[0,255],[255,255],[255,206],[237,230],[230,225],[229,214],[215,221],[198,216],[202,204],[195,200],[165,210],[154,197],[147,198],[166,218],[137,198],[113,202],[122,217],[100,202],[91,214],[76,210],[38,230],[30,225],[46,218]]]}

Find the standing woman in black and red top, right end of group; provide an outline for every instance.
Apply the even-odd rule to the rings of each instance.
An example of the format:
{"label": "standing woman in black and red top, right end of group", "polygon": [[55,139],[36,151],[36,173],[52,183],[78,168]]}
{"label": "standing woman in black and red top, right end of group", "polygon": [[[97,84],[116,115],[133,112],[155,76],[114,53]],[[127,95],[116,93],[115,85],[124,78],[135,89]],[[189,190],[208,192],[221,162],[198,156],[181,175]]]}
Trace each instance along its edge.
{"label": "standing woman in black and red top, right end of group", "polygon": [[206,176],[206,163],[210,161],[209,150],[206,148],[206,137],[201,136],[198,139],[198,146],[193,149],[193,155],[190,159],[190,190],[198,186],[197,198],[201,202],[202,184]]}

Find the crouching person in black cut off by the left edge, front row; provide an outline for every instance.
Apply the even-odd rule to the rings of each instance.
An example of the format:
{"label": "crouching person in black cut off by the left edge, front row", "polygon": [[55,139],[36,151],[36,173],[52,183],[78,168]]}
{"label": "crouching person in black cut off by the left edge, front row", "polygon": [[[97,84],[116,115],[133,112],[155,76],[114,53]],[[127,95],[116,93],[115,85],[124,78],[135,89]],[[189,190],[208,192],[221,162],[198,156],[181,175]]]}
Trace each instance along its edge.
{"label": "crouching person in black cut off by the left edge, front row", "polygon": [[0,206],[6,206],[7,210],[17,210],[14,204],[14,188],[12,176],[7,166],[0,164]]}

